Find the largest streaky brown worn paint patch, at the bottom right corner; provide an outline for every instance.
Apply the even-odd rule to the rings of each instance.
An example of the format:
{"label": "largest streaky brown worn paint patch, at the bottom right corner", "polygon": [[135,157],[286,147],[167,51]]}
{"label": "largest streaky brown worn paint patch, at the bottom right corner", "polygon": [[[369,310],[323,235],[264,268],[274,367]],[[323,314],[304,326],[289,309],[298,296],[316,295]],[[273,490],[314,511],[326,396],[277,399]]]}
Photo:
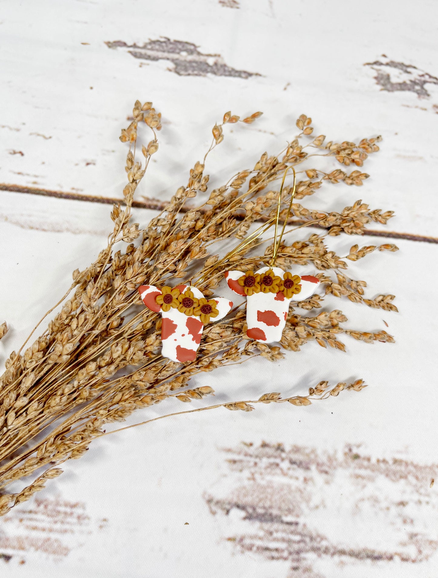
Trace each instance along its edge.
{"label": "largest streaky brown worn paint patch, at the bottom right corner", "polygon": [[[359,447],[347,445],[339,454],[266,442],[223,449],[225,494],[205,499],[212,514],[240,512],[233,542],[241,553],[288,562],[289,578],[324,578],[321,568],[327,576],[337,575],[331,564],[347,563],[349,575],[356,569],[362,576],[370,562],[429,560],[438,550],[438,497],[429,489],[438,464],[374,458],[359,453]],[[349,532],[342,527],[333,532],[333,517],[347,521]],[[227,536],[237,518],[227,521]],[[379,568],[386,575],[384,566]]]}

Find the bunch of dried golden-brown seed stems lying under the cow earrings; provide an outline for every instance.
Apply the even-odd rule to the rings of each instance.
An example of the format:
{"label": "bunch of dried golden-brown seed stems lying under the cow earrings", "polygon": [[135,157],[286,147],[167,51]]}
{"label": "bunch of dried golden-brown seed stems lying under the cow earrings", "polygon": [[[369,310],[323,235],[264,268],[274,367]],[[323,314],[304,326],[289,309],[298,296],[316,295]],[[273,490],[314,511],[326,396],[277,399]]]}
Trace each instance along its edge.
{"label": "bunch of dried golden-brown seed stems lying under the cow earrings", "polygon": [[[279,155],[263,153],[252,170],[237,173],[212,190],[208,197],[203,195],[204,200],[196,208],[187,208],[187,199],[207,191],[209,176],[205,174],[205,161],[222,142],[224,127],[238,121],[251,124],[260,114],[257,112],[240,120],[227,112],[223,122],[212,129],[212,144],[203,162],[196,162],[190,169],[187,185],[179,187],[164,210],[145,228],[140,228],[138,223],[131,223],[132,199],[152,155],[158,150],[161,115],[152,103],[135,102],[134,120],[120,137],[129,146],[128,182],[123,190],[123,202],[112,209],[114,227],[108,246],[84,271],[76,269],[73,272],[72,286],[46,315],[62,305],[60,312],[30,347],[24,350],[23,346],[18,353],[10,354],[0,378],[0,488],[3,492],[0,514],[41,490],[45,480],[60,475],[62,470],[53,466],[81,457],[91,440],[108,435],[102,430],[105,423],[123,421],[139,407],[167,399],[190,402],[213,394],[211,387],[188,387],[189,380],[200,372],[240,363],[255,355],[270,361],[284,357],[281,347],[248,338],[245,303],[242,303],[223,320],[206,325],[195,361],[181,364],[166,360],[160,354],[160,314],[145,309],[137,291],[139,285],[147,282],[160,288],[170,287],[163,289],[163,295],[172,295],[171,287],[179,282],[175,280],[184,278],[197,284],[208,299],[227,269],[238,268],[245,273],[269,264],[273,243],[260,255],[260,246],[266,240],[255,239],[225,261],[219,261],[218,254],[211,254],[212,245],[230,238],[244,239],[253,223],[267,221],[275,215],[279,195],[275,181],[281,179],[288,166],[295,167],[297,175],[304,177],[297,181],[294,200],[314,194],[325,181],[360,186],[368,177],[359,170],[349,174],[341,169],[329,173],[319,168],[299,171],[299,165],[304,162],[309,165],[315,157],[332,157],[344,166],[362,167],[367,155],[378,150],[376,143],[380,140],[363,139],[359,144],[325,143],[323,135],[311,137],[311,118],[303,114],[296,123],[299,134]],[[152,130],[153,139],[141,147],[143,160],[139,161],[136,150],[141,123]],[[284,187],[280,220],[285,218],[288,199],[290,187]],[[393,295],[367,299],[365,281],[340,273],[341,269],[347,269],[347,260],[357,261],[376,247],[359,249],[355,244],[343,260],[325,244],[326,235],[360,235],[366,232],[366,225],[371,221],[385,224],[392,216],[391,211],[371,210],[362,201],[352,203],[341,212],[310,210],[295,202],[291,214],[289,224],[294,228],[290,230],[308,225],[326,230],[289,246],[282,243],[277,254],[279,266],[311,264],[320,271],[318,278],[325,284],[326,295],[396,310],[392,304]],[[395,251],[397,247],[382,244],[378,249]],[[296,267],[293,274],[295,272]],[[289,275],[289,278],[292,290],[294,277]],[[178,296],[173,298],[178,299]],[[308,311],[319,309],[323,300],[320,295],[314,295],[300,302],[299,307]],[[170,298],[163,299],[164,303],[168,301]],[[281,346],[299,351],[308,341],[316,340],[322,347],[328,344],[344,350],[344,344],[338,339],[341,334],[367,343],[393,341],[385,331],[344,329],[341,323],[346,320],[338,309],[303,316],[291,307]],[[0,338],[7,329],[5,323],[0,325]],[[281,399],[280,394],[274,392],[263,395],[255,403],[288,401],[297,406],[309,405],[310,398],[326,398],[337,395],[344,388],[359,391],[363,387],[362,380],[358,380],[348,386],[338,383],[330,390],[324,381],[311,387],[306,396]],[[240,401],[189,411],[219,406],[231,410],[253,409],[251,402]],[[6,493],[8,484],[28,476],[34,481],[23,490]]]}

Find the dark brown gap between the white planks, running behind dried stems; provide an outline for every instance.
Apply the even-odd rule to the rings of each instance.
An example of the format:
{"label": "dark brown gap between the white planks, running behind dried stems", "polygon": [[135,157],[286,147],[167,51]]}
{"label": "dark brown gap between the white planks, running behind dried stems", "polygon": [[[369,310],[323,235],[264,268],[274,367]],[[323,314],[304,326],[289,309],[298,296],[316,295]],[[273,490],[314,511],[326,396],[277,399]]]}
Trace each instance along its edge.
{"label": "dark brown gap between the white planks, running behind dried stems", "polygon": [[[116,199],[112,197],[94,197],[93,195],[81,195],[75,192],[62,192],[62,191],[51,191],[45,188],[34,188],[34,187],[22,187],[17,184],[5,184],[0,183],[0,191],[9,191],[9,192],[20,192],[28,195],[39,195],[42,197],[52,197],[55,199],[67,199],[68,201],[85,201],[88,203],[101,203],[102,205],[113,205],[114,203],[124,204],[123,199]],[[164,207],[168,204],[167,202],[160,202],[156,199],[148,199],[146,201],[132,201],[132,206],[138,209],[150,209],[150,210],[157,210],[161,211]],[[192,207],[183,207],[183,213],[186,213],[189,210],[193,210]],[[238,216],[236,216],[238,218]],[[256,221],[263,221],[266,219],[260,218]],[[303,224],[307,221],[302,219],[290,219],[288,224]],[[318,229],[326,229],[326,227],[322,227],[322,225],[312,225],[312,227],[316,227]],[[388,239],[406,239],[409,241],[418,241],[422,243],[437,243],[437,237],[426,237],[423,235],[414,235],[411,233],[397,233],[396,231],[376,231],[375,229],[366,229],[366,235],[370,235],[373,237],[384,237]]]}

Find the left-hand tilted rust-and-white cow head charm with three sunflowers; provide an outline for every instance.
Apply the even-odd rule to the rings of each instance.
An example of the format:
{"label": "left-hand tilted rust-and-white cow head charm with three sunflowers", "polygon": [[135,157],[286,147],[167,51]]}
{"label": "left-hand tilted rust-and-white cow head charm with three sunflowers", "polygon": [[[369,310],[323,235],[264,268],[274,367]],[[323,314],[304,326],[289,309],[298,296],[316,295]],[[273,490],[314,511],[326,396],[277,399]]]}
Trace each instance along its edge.
{"label": "left-hand tilted rust-and-white cow head charm with three sunflowers", "polygon": [[224,297],[205,299],[194,286],[160,289],[142,285],[138,291],[146,307],[161,312],[161,355],[171,361],[194,361],[204,324],[219,321],[233,307],[233,302]]}

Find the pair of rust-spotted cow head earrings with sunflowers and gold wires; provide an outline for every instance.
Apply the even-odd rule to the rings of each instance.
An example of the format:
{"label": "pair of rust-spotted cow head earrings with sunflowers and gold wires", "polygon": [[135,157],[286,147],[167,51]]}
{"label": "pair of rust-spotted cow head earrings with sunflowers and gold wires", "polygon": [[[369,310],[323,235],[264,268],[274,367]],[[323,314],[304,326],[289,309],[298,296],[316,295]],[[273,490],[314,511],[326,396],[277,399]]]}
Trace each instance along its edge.
{"label": "pair of rust-spotted cow head earrings with sunflowers and gold wires", "polygon": [[[246,297],[246,334],[260,343],[272,343],[281,340],[288,317],[291,301],[304,301],[314,294],[319,286],[319,279],[312,275],[293,275],[275,266],[278,248],[284,234],[286,223],[292,208],[295,195],[295,171],[293,171],[293,191],[290,198],[281,234],[277,239],[278,220],[281,206],[281,194],[286,178],[286,169],[278,196],[277,216],[259,227],[226,255],[221,262],[238,253],[251,243],[260,232],[267,231],[275,220],[274,251],[269,266],[256,272],[227,271],[224,276],[228,286],[237,295]],[[260,229],[263,229],[261,231]],[[198,279],[200,283],[201,279]],[[141,299],[150,310],[161,313],[161,341],[163,357],[176,362],[194,361],[204,325],[219,321],[233,307],[233,302],[224,297],[207,299],[194,285],[181,284],[174,288],[163,288],[153,285],[142,285],[138,288]]]}

